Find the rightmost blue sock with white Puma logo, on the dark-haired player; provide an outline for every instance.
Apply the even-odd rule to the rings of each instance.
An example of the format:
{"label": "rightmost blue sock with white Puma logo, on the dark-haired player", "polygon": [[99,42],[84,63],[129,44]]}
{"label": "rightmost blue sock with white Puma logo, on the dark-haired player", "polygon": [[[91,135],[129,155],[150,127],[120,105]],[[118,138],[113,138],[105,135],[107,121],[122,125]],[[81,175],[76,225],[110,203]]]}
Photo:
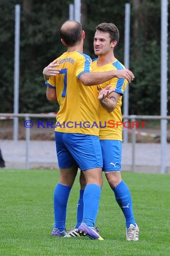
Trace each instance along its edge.
{"label": "rightmost blue sock with white Puma logo, on the dark-haired player", "polygon": [[116,202],[122,209],[126,219],[126,227],[129,228],[130,224],[136,226],[132,209],[132,197],[130,191],[124,181],[121,181],[115,188],[112,188],[115,193]]}

